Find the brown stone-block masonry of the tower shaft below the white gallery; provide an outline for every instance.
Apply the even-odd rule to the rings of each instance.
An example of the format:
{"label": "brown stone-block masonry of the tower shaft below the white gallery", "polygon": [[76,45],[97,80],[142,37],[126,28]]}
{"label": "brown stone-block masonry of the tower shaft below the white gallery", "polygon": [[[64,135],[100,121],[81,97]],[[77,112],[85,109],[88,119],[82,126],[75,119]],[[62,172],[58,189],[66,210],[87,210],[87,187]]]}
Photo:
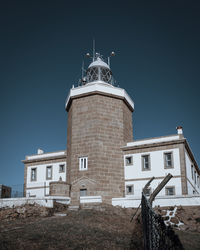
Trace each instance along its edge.
{"label": "brown stone-block masonry of the tower shaft below the white gallery", "polygon": [[[74,99],[68,114],[67,173],[72,204],[80,188],[101,195],[103,202],[124,194],[120,147],[132,141],[132,112],[123,100],[103,95]],[[79,157],[88,157],[88,170],[79,171]]]}

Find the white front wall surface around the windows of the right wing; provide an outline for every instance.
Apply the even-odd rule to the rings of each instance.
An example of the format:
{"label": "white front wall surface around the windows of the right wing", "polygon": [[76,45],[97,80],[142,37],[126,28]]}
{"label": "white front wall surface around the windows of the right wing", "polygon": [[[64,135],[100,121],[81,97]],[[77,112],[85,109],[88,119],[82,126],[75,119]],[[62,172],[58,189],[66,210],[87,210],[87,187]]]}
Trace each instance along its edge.
{"label": "white front wall surface around the windows of the right wing", "polygon": [[[173,164],[174,168],[164,168],[164,153],[172,152],[173,153]],[[151,170],[142,171],[142,155],[150,155],[150,166]],[[125,165],[126,156],[133,157],[133,163],[130,166]],[[156,179],[152,182],[151,188],[152,191],[157,187],[157,185],[164,179],[164,177],[171,173],[173,176],[180,176],[180,157],[179,149],[170,149],[170,150],[158,150],[153,152],[145,153],[136,153],[128,154],[124,156],[124,174],[125,174],[125,186],[134,185],[134,197],[141,196],[142,188],[148,182],[148,180],[133,180],[140,178],[151,178],[151,177],[163,177],[162,179]],[[181,195],[181,178],[172,178],[166,186],[175,186],[175,194]],[[165,195],[165,189],[163,189],[159,195]],[[128,195],[130,196],[130,195]]]}

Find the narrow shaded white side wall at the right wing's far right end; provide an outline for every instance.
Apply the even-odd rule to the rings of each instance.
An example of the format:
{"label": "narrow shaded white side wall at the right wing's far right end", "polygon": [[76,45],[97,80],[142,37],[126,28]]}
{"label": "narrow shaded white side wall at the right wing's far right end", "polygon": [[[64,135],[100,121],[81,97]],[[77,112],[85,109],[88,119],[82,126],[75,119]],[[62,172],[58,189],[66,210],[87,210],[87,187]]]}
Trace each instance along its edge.
{"label": "narrow shaded white side wall at the right wing's far right end", "polygon": [[[195,170],[195,166],[192,163],[192,161],[191,161],[191,159],[190,159],[187,151],[185,151],[185,161],[186,161],[186,175],[187,175],[187,179],[191,182],[191,183],[189,181],[187,182],[188,194],[193,194],[193,191],[195,191],[195,189],[200,194],[200,186],[199,186],[200,184],[198,183],[198,180],[196,181],[196,184],[195,184],[194,179],[192,179],[191,165],[193,165],[193,169],[194,170]],[[196,173],[196,179],[197,179],[197,176],[198,176],[198,174]],[[195,189],[194,189],[194,187],[195,187]]]}

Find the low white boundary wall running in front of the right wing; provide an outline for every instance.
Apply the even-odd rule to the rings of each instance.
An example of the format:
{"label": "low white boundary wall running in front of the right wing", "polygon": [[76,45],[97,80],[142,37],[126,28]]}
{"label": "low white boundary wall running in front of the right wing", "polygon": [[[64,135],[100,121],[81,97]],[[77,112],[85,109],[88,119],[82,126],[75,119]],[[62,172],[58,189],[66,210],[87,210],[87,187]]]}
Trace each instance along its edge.
{"label": "low white boundary wall running in front of the right wing", "polygon": [[[138,207],[141,203],[141,197],[126,197],[126,198],[113,198],[113,206],[121,207]],[[153,207],[160,206],[200,206],[200,195],[176,195],[176,196],[157,196],[153,202]]]}

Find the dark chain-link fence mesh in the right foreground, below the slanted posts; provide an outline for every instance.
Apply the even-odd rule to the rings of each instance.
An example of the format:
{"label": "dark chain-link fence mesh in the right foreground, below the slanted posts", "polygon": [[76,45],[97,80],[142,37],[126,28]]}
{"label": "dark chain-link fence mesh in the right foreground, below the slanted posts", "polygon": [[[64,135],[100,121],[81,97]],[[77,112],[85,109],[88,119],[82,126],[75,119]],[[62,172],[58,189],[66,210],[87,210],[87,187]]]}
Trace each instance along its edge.
{"label": "dark chain-link fence mesh in the right foreground, below the slanted posts", "polygon": [[145,250],[181,250],[183,246],[171,226],[166,226],[142,194],[142,224]]}

